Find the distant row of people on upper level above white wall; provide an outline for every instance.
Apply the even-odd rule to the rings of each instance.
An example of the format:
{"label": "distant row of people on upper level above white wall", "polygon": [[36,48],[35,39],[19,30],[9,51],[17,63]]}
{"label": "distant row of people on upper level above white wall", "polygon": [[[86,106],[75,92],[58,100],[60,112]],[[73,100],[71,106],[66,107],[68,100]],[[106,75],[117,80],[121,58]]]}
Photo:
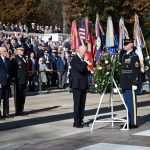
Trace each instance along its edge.
{"label": "distant row of people on upper level above white wall", "polygon": [[61,27],[55,24],[55,26],[43,26],[36,25],[35,23],[31,23],[31,27],[28,27],[26,24],[18,23],[18,24],[4,24],[0,21],[0,31],[11,31],[11,32],[30,32],[30,33],[42,33],[42,34],[50,34],[50,33],[61,33]]}

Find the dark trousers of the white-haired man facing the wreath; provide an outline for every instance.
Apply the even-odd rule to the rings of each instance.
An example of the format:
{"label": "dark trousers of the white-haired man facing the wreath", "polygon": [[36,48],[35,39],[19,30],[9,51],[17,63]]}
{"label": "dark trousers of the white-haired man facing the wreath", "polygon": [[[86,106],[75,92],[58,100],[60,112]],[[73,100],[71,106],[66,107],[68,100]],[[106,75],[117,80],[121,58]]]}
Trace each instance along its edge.
{"label": "dark trousers of the white-haired man facing the wreath", "polygon": [[74,100],[74,122],[81,123],[84,119],[84,110],[86,102],[86,90],[73,89]]}

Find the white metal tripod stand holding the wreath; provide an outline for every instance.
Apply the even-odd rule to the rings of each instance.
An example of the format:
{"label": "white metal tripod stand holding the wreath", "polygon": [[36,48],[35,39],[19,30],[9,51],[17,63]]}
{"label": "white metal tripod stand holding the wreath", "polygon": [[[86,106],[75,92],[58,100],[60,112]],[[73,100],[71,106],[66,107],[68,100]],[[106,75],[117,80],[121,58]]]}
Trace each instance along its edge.
{"label": "white metal tripod stand holding the wreath", "polygon": [[[123,128],[122,128],[121,130],[129,130],[129,124],[128,124],[128,108],[127,108],[127,106],[126,106],[126,104],[125,104],[125,102],[124,102],[124,98],[123,98],[122,94],[121,94],[120,91],[119,91],[119,88],[118,88],[118,86],[117,86],[117,84],[116,84],[116,81],[114,80],[114,70],[115,70],[116,55],[112,56],[112,60],[113,60],[113,68],[112,68],[112,71],[111,71],[111,76],[110,76],[110,78],[109,78],[109,80],[108,80],[107,86],[105,87],[105,89],[104,89],[102,95],[100,96],[98,109],[97,109],[96,115],[95,115],[95,117],[94,117],[94,121],[93,121],[93,123],[92,123],[91,131],[93,130],[94,124],[95,124],[96,122],[111,122],[112,127],[114,126],[114,123],[115,123],[115,122],[122,122],[122,123],[124,123],[124,125],[123,125]],[[100,110],[100,108],[101,108],[101,104],[102,104],[104,95],[105,95],[105,93],[106,93],[106,89],[107,89],[107,87],[108,87],[109,84],[111,84],[111,92],[110,92],[110,99],[109,99],[109,105],[110,105],[110,107],[111,107],[111,119],[110,119],[110,120],[96,120],[97,117],[98,117],[98,115],[99,115],[99,110]],[[121,119],[121,118],[116,118],[116,117],[114,117],[114,109],[113,109],[113,85],[116,87],[116,89],[117,89],[117,91],[118,91],[118,93],[119,93],[119,96],[120,96],[120,98],[121,98],[121,100],[122,100],[122,102],[123,102],[123,105],[124,105],[124,107],[125,107],[125,109],[126,109],[126,119]]]}

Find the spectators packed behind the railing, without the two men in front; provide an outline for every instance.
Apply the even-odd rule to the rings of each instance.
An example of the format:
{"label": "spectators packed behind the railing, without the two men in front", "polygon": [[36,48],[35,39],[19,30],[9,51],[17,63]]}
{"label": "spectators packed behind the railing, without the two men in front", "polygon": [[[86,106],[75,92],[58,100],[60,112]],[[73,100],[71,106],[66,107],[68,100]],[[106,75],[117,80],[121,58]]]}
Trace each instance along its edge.
{"label": "spectators packed behind the railing, without the two men in front", "polygon": [[[35,80],[41,71],[40,82],[42,89],[58,86],[66,86],[66,77],[69,61],[72,56],[71,42],[62,37],[55,42],[52,37],[48,41],[30,37],[29,34],[21,35],[19,32],[12,34],[9,39],[0,32],[0,46],[5,46],[9,52],[10,59],[15,55],[18,46],[24,48],[24,56],[27,61],[29,91],[34,91]],[[36,72],[37,71],[37,72]],[[46,72],[45,72],[46,71]],[[62,82],[62,83],[61,83]]]}

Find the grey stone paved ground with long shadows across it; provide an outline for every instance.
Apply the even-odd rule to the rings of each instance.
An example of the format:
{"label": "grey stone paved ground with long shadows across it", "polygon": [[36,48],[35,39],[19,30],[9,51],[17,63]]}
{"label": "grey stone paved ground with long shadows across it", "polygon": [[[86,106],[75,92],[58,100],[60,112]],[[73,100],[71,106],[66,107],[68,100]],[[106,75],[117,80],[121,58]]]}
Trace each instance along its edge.
{"label": "grey stone paved ground with long shadows across it", "polygon": [[[0,121],[0,150],[150,150],[150,95],[138,96],[139,128],[120,130],[110,123],[91,125],[100,96],[88,94],[85,122],[89,127],[73,128],[72,94],[51,92],[27,96],[25,117]],[[118,94],[114,95],[114,115],[124,118],[126,113]],[[109,94],[105,95],[99,119],[110,118]],[[10,113],[14,114],[13,99]]]}

